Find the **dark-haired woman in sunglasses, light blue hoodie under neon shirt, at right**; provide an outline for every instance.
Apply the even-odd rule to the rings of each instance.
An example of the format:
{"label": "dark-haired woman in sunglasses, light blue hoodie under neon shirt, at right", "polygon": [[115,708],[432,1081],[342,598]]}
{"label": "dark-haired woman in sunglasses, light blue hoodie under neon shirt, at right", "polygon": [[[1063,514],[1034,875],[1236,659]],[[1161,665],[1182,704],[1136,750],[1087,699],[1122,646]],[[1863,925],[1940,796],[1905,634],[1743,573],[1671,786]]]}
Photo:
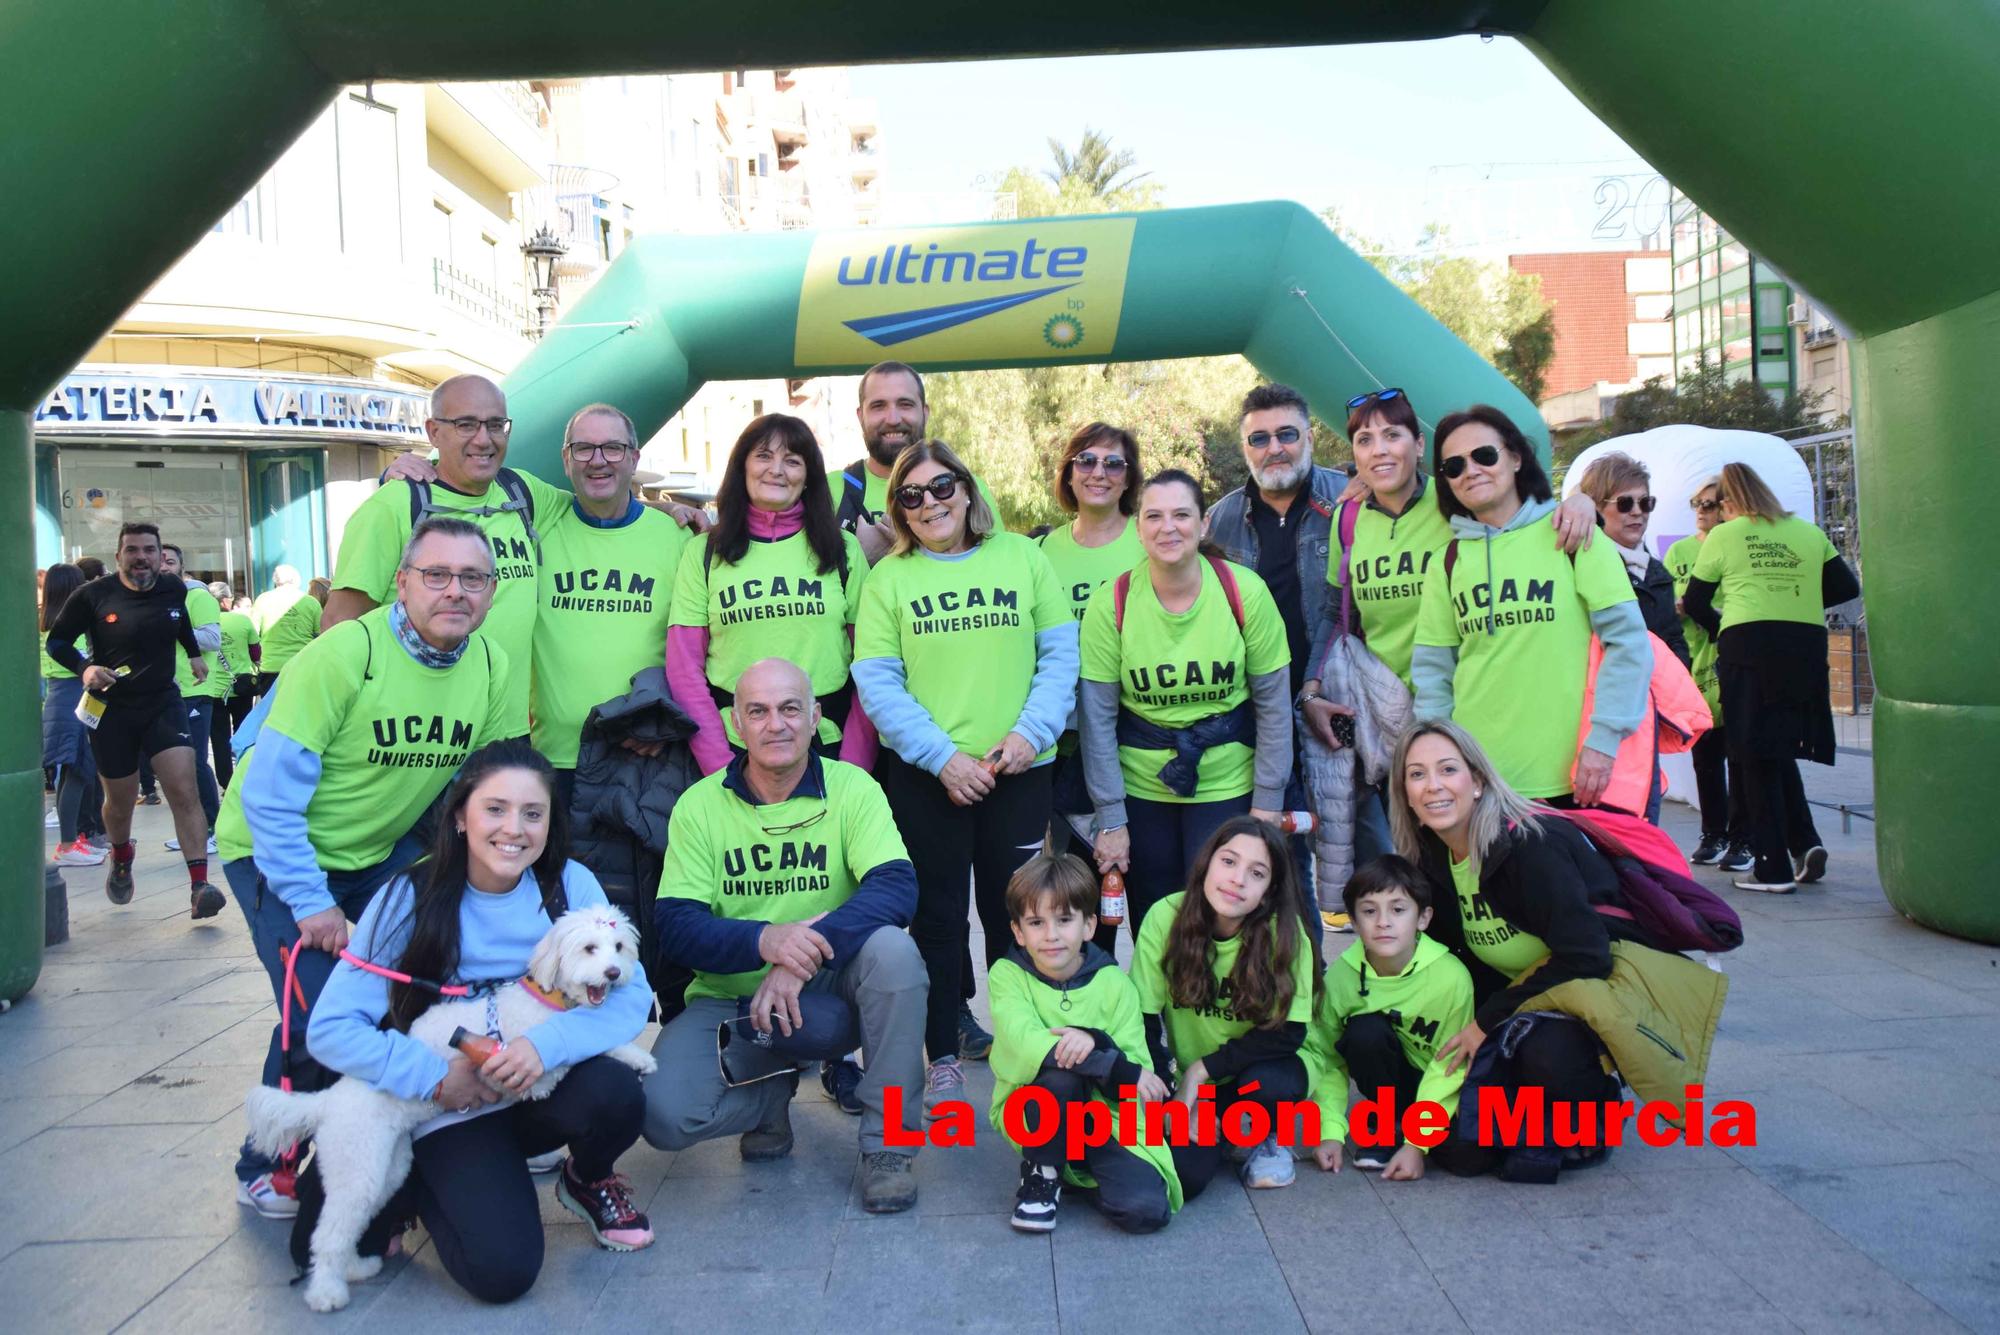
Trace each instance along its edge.
{"label": "dark-haired woman in sunglasses, light blue hoodie under neon shirt, at right", "polygon": [[[1652,683],[1652,642],[1624,562],[1604,544],[1564,556],[1548,542],[1548,474],[1498,408],[1454,412],[1434,440],[1452,540],[1424,578],[1410,656],[1416,717],[1470,729],[1526,797],[1596,805]],[[1592,636],[1604,658],[1578,747]]]}

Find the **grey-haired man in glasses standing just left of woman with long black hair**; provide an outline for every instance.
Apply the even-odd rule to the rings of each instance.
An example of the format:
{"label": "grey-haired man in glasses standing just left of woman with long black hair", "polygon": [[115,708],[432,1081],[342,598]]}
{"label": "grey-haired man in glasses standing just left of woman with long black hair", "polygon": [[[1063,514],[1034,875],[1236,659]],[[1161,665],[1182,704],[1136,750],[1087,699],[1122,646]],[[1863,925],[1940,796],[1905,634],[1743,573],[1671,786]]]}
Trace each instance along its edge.
{"label": "grey-haired man in glasses standing just left of woman with long black hair", "polygon": [[556,767],[566,807],[590,709],[658,668],[674,572],[688,532],[632,496],[638,432],[610,404],[578,408],[562,432],[576,496],[550,516],[534,622],[534,749]]}

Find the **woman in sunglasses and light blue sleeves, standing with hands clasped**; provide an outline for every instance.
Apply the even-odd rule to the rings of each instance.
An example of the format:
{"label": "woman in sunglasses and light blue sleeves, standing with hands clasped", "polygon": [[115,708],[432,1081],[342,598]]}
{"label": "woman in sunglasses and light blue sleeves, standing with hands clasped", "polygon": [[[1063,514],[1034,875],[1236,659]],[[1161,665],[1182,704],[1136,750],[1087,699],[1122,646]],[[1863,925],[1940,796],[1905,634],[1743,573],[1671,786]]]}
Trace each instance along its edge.
{"label": "woman in sunglasses and light blue sleeves, standing with hands clasped", "polygon": [[1048,558],[998,528],[950,446],[908,446],[888,496],[896,540],[862,590],[854,685],[882,733],[876,777],[916,867],[928,1111],[966,1089],[968,883],[992,967],[1012,939],[1008,877],[1048,835],[1048,761],[1076,699],[1076,618]]}

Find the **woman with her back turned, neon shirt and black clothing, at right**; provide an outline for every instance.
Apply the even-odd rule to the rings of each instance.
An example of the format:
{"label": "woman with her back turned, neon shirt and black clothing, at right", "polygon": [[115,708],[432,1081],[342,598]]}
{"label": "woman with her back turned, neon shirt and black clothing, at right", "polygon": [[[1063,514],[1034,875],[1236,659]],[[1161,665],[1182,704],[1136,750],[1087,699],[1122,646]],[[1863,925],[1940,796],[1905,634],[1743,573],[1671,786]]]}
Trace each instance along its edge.
{"label": "woman with her back turned, neon shirt and black clothing, at right", "polygon": [[1748,464],[1724,464],[1720,492],[1722,524],[1694,558],[1682,608],[1716,638],[1730,759],[1742,771],[1756,865],[1734,885],[1788,895],[1826,875],[1798,761],[1834,763],[1826,608],[1862,588],[1826,534],[1780,506]]}

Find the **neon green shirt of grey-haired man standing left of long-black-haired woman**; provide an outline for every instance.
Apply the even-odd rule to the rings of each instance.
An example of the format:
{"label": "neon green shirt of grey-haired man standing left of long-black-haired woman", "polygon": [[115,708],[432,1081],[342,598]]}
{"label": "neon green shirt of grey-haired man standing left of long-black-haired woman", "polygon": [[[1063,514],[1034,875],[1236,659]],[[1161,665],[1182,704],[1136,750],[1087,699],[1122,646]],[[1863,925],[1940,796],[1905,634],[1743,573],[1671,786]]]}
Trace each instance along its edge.
{"label": "neon green shirt of grey-haired man standing left of long-black-haired woman", "polygon": [[598,528],[568,504],[542,530],[540,608],[534,618],[534,749],[576,767],[590,709],[632,689],[632,675],[666,662],[674,570],[688,530],[640,508]]}

